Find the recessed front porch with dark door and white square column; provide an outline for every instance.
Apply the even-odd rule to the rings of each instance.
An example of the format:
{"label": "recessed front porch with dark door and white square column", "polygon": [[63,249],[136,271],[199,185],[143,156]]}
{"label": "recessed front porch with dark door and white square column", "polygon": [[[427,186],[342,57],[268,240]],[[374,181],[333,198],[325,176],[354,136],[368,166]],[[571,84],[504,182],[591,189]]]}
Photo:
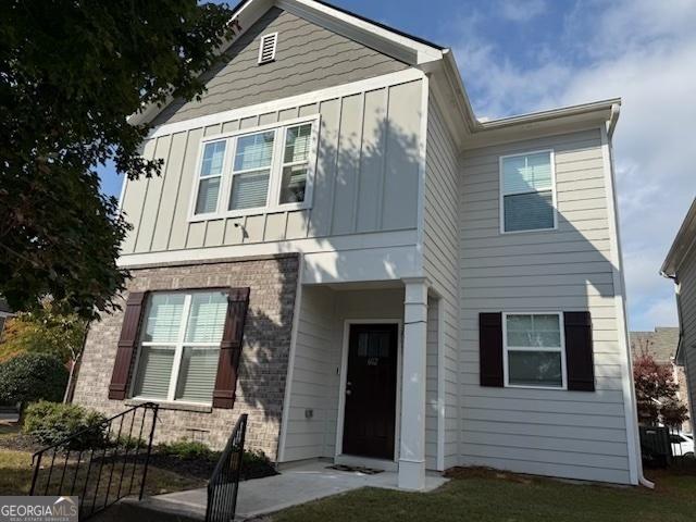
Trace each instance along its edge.
{"label": "recessed front porch with dark door and white square column", "polygon": [[425,487],[438,465],[438,299],[423,278],[303,285],[278,445],[308,459],[396,473]]}

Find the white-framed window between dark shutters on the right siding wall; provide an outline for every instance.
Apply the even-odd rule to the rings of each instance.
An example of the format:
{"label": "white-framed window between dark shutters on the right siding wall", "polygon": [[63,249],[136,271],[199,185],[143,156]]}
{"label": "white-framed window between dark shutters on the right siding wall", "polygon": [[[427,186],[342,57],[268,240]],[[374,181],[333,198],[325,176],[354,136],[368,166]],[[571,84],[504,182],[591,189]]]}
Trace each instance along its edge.
{"label": "white-framed window between dark shutters on the right siding wall", "polygon": [[566,388],[560,313],[504,314],[506,386]]}

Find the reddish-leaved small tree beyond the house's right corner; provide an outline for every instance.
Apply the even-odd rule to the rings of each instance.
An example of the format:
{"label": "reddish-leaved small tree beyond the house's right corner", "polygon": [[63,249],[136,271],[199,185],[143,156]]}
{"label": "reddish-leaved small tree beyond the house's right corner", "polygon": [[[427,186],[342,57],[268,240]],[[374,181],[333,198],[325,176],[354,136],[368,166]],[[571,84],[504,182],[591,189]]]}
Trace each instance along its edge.
{"label": "reddish-leaved small tree beyond the house's right corner", "polygon": [[633,381],[639,422],[680,426],[688,419],[686,407],[676,398],[679,384],[670,364],[660,364],[644,351],[633,363]]}

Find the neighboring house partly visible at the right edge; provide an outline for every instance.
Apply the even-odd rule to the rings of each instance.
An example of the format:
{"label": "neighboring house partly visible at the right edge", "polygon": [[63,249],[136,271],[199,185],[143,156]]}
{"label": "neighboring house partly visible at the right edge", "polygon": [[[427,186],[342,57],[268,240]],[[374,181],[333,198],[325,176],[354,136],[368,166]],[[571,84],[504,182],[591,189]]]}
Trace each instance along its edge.
{"label": "neighboring house partly visible at the right edge", "polygon": [[692,423],[696,406],[696,198],[692,203],[664,263],[662,275],[674,281],[680,338],[676,363],[684,366]]}

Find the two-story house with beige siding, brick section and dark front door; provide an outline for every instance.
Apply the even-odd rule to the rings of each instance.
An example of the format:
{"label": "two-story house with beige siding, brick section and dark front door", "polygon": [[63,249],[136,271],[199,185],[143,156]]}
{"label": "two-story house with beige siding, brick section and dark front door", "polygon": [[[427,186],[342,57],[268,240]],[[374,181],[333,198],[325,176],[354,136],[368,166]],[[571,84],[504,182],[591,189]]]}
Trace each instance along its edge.
{"label": "two-story house with beige siding, brick section and dark front door", "polygon": [[[250,0],[200,101],[147,108],[122,312],[75,393],[277,462],[642,477],[617,233],[619,100],[478,122],[450,49]],[[464,35],[465,37],[465,35]]]}

